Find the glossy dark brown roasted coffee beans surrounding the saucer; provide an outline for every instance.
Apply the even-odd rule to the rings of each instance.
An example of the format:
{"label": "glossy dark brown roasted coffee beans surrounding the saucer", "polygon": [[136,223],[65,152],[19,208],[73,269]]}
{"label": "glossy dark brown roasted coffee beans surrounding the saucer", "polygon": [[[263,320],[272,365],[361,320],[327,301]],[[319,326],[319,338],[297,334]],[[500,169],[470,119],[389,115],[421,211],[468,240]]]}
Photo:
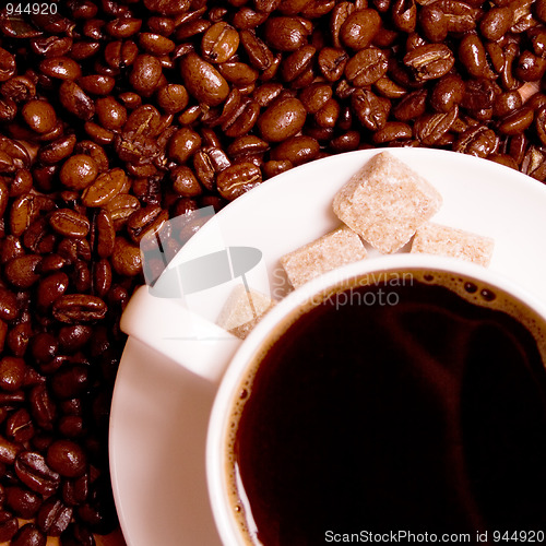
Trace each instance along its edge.
{"label": "glossy dark brown roasted coffee beans surrounding the saucer", "polygon": [[0,542],[92,546],[145,237],[368,147],[545,181],[546,0],[56,5],[0,12]]}

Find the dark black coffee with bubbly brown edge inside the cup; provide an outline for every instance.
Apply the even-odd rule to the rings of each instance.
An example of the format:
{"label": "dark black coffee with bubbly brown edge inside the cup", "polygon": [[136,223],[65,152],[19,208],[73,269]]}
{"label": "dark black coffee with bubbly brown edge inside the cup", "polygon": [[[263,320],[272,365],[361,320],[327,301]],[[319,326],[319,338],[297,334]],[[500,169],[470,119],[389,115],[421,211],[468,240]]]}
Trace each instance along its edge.
{"label": "dark black coffee with bubbly brown edge inside the cup", "polygon": [[274,333],[241,384],[227,465],[249,543],[544,530],[543,324],[440,273],[358,284]]}

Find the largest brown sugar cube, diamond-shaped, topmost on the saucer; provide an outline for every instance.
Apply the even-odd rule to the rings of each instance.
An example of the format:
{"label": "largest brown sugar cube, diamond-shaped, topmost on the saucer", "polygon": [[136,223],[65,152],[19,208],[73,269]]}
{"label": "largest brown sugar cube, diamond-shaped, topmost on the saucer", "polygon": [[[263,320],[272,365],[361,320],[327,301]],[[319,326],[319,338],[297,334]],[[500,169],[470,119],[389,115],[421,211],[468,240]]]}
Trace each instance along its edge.
{"label": "largest brown sugar cube, diamond-shaped, topmost on the saucer", "polygon": [[442,203],[440,193],[389,152],[375,155],[336,193],[339,218],[383,253],[403,247]]}

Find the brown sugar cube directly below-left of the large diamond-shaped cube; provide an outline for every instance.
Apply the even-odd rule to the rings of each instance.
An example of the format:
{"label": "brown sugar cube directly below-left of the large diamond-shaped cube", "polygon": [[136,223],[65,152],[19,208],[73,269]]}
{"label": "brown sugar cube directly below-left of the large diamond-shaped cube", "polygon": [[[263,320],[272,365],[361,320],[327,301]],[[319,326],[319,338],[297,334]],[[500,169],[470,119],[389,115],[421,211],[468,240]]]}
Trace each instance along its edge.
{"label": "brown sugar cube directly below-left of the large diamond-shaped cube", "polygon": [[367,251],[355,232],[339,227],[281,258],[290,284],[297,288],[322,273],[366,258]]}

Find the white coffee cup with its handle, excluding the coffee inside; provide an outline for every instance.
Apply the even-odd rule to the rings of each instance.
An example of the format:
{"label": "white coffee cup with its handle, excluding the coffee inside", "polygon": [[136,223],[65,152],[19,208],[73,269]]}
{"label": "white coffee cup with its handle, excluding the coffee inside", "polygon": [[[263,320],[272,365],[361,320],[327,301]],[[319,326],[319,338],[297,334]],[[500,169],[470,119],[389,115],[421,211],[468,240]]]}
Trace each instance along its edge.
{"label": "white coffee cup with its handle, excluding the coffee inside", "polygon": [[[242,378],[248,372],[264,341],[288,317],[321,301],[320,295],[355,278],[379,278],[385,272],[430,270],[448,272],[454,277],[474,282],[479,287],[508,294],[529,309],[529,317],[546,322],[546,305],[519,287],[512,281],[486,268],[452,258],[399,253],[352,263],[310,281],[272,308],[241,341],[216,324],[197,317],[177,301],[162,299],[141,287],[131,298],[121,319],[121,329],[157,352],[170,357],[199,376],[218,383],[211,413],[207,446],[206,476],[212,511],[218,534],[225,546],[248,544],[235,515],[226,473],[226,437],[230,411]],[[525,324],[526,325],[526,324]],[[197,336],[185,336],[189,329]],[[546,335],[546,332],[545,332]],[[544,354],[544,353],[543,353]]]}

